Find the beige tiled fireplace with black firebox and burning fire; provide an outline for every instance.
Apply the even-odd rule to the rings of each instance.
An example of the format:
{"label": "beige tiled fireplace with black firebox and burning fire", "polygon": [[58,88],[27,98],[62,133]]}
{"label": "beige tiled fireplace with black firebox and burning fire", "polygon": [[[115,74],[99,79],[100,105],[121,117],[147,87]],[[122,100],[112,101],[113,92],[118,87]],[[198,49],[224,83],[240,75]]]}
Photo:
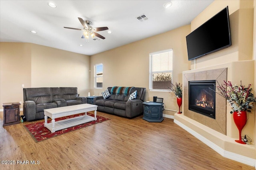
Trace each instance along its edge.
{"label": "beige tiled fireplace with black firebox and burning fire", "polygon": [[227,68],[183,74],[185,116],[226,135],[226,100],[215,94],[215,82],[227,80]]}

